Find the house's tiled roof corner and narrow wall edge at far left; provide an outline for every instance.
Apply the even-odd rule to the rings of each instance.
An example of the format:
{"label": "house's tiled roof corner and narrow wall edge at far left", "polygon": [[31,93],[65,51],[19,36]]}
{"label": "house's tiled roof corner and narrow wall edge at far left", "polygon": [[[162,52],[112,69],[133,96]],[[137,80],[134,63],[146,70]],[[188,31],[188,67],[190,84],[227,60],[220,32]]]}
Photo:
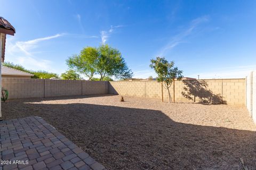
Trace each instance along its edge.
{"label": "house's tiled roof corner and narrow wall edge at far left", "polygon": [[[10,24],[9,21],[5,20],[2,16],[0,16],[0,33],[2,33],[0,36],[0,41],[2,41],[2,47],[0,47],[2,50],[2,58],[1,61],[4,62],[4,52],[5,52],[5,40],[6,40],[6,34],[14,36],[15,29]],[[0,56],[0,57],[1,57]]]}

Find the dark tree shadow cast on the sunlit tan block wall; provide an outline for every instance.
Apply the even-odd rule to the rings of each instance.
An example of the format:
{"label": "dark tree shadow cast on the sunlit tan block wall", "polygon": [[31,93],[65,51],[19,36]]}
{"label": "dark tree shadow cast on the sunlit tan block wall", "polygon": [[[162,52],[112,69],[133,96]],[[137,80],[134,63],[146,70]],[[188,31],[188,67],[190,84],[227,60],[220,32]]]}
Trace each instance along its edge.
{"label": "dark tree shadow cast on the sunlit tan block wall", "polygon": [[182,96],[188,100],[196,102],[199,99],[199,103],[202,104],[227,104],[226,100],[223,100],[221,94],[213,94],[213,92],[208,89],[208,83],[204,80],[182,80],[185,87],[181,92]]}

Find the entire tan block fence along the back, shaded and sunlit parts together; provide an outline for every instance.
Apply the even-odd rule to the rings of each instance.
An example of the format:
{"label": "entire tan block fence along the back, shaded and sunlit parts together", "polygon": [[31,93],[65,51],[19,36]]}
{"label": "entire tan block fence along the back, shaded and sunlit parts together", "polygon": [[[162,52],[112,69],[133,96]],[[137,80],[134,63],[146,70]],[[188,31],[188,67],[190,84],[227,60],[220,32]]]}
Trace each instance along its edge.
{"label": "entire tan block fence along the back, shaded and sunlit parts together", "polygon": [[[255,74],[254,74],[255,75]],[[256,80],[256,79],[255,79]],[[174,82],[175,101],[202,101],[247,106],[248,79],[183,80]],[[156,81],[86,81],[2,78],[9,99],[119,94],[162,99],[162,85]],[[173,100],[173,85],[170,87]],[[248,97],[248,96],[246,96]],[[163,88],[164,101],[168,92]],[[256,115],[256,114],[255,114]],[[255,119],[256,120],[256,119]]]}

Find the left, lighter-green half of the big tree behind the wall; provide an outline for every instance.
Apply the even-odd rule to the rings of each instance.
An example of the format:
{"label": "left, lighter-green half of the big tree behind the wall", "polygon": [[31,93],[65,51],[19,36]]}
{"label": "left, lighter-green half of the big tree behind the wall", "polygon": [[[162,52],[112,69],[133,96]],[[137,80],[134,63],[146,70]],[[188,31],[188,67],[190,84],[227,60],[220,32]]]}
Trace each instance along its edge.
{"label": "left, lighter-green half of the big tree behind the wall", "polygon": [[98,49],[94,47],[83,48],[79,55],[73,55],[66,60],[70,69],[73,69],[91,80],[96,72]]}

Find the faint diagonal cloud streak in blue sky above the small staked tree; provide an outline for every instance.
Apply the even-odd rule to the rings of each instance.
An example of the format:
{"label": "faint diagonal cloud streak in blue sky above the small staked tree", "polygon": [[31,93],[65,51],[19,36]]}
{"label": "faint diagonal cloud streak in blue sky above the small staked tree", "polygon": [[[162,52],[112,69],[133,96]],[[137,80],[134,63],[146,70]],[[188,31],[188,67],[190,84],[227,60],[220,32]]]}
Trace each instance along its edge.
{"label": "faint diagonal cloud streak in blue sky above the small staked tree", "polygon": [[193,31],[198,27],[199,24],[209,21],[209,16],[202,16],[190,22],[187,29],[181,31],[178,35],[170,38],[169,42],[159,50],[157,56],[163,56],[168,50],[173,49],[181,43],[185,43],[185,38],[191,35]]}

